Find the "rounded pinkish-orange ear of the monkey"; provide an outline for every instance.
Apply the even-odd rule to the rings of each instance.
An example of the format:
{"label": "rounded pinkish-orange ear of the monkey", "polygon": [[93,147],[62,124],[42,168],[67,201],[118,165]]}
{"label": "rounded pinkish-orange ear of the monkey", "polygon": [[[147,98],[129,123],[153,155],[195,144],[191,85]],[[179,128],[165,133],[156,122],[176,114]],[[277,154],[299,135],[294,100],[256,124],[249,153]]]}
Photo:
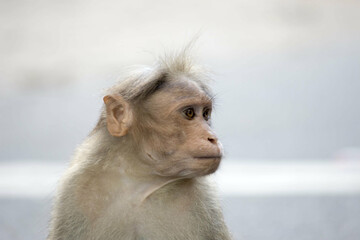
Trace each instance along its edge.
{"label": "rounded pinkish-orange ear of the monkey", "polygon": [[106,121],[109,133],[116,137],[125,136],[132,124],[130,105],[119,95],[103,98],[106,106]]}

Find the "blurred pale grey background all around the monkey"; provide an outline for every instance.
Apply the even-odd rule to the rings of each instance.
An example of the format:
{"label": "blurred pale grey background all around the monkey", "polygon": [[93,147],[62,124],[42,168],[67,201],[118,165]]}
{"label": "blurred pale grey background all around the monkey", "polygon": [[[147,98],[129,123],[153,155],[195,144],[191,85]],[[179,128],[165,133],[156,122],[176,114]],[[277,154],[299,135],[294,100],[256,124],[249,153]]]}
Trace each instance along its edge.
{"label": "blurred pale grey background all around the monkey", "polygon": [[199,34],[227,156],[219,178],[242,163],[256,174],[262,164],[320,162],[321,173],[334,161],[355,176],[336,191],[225,192],[234,238],[360,239],[359,13],[355,0],[0,0],[0,238],[45,238],[53,192],[10,186],[31,182],[24,176],[40,162],[58,174],[36,174],[53,191],[96,123],[102,90]]}

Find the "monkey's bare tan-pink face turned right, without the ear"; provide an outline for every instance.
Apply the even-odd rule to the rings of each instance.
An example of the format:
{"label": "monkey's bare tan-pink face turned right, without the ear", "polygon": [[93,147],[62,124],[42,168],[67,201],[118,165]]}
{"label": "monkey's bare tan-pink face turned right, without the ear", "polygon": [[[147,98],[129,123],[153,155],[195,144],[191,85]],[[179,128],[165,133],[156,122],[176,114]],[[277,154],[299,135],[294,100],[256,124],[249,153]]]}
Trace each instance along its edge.
{"label": "monkey's bare tan-pink face turned right, without the ear", "polygon": [[145,161],[161,176],[195,177],[216,171],[222,146],[211,130],[211,98],[194,82],[153,94],[136,115]]}

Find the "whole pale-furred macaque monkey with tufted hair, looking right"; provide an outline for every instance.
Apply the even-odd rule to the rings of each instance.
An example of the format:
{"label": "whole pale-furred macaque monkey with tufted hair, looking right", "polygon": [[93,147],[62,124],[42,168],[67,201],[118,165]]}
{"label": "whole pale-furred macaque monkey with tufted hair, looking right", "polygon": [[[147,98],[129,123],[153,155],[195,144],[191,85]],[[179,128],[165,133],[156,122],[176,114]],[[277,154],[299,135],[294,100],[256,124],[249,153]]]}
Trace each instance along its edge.
{"label": "whole pale-furred macaque monkey with tufted hair, looking right", "polygon": [[184,53],[108,90],[63,176],[48,240],[229,240],[207,181],[213,95]]}

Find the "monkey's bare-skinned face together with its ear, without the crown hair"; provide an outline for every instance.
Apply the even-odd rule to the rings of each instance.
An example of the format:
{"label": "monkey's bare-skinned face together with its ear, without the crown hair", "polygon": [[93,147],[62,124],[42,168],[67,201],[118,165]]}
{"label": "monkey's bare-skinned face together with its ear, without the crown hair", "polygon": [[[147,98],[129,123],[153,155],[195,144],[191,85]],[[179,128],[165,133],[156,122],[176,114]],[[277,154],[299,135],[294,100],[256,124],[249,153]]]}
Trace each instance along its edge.
{"label": "monkey's bare-skinned face together with its ear, without the crown hair", "polygon": [[[201,81],[186,76],[154,82],[141,100],[104,97],[108,132],[125,135],[154,174],[191,178],[213,173],[222,146],[211,129],[212,97]],[[130,140],[129,140],[130,141]]]}

